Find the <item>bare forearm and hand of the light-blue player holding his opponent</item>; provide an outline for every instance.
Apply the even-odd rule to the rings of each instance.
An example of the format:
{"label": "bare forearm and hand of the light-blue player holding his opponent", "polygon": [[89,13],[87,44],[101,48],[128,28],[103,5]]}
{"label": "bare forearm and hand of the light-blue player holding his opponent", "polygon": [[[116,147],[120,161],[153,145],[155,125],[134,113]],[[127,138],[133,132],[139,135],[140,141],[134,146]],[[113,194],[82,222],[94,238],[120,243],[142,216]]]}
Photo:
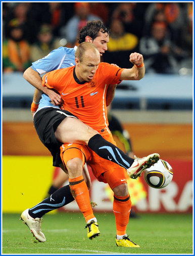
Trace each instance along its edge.
{"label": "bare forearm and hand of the light-blue player holding his opponent", "polygon": [[38,92],[35,90],[35,95],[33,96],[33,101],[38,103],[41,98],[42,92],[48,95],[50,97],[52,103],[54,105],[60,105],[62,103],[62,98],[59,94],[54,92],[53,90],[48,89],[47,87],[42,86],[42,79],[37,71],[32,69],[31,67],[27,68],[23,74],[23,77],[30,83],[32,86],[34,86],[36,89],[38,89],[41,92]]}

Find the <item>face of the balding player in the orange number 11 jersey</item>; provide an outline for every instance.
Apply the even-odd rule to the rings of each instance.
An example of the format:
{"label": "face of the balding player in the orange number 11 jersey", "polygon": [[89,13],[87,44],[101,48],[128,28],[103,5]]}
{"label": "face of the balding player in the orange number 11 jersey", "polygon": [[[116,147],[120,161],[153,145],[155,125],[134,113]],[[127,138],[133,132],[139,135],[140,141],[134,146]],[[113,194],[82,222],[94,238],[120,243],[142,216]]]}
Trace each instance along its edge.
{"label": "face of the balding player in the orange number 11 jersey", "polygon": [[[100,54],[95,51],[87,51],[82,58],[82,62],[76,61],[76,76],[82,81],[91,81],[95,75],[95,72],[100,64]],[[77,62],[78,61],[78,62]],[[77,64],[78,63],[78,64]]]}

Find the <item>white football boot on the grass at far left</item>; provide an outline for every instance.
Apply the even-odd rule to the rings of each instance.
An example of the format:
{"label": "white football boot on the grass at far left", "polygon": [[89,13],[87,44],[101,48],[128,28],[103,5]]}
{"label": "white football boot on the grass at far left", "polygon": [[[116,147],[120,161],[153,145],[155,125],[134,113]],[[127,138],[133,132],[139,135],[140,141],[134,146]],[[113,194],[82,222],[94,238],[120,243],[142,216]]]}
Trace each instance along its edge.
{"label": "white football boot on the grass at far left", "polygon": [[21,218],[20,220],[22,220],[23,224],[26,224],[31,233],[33,234],[33,236],[35,236],[35,238],[39,241],[39,242],[45,242],[46,238],[44,236],[44,234],[41,231],[41,223],[43,222],[42,218],[32,218],[30,217],[30,215],[28,214],[28,210],[26,209],[22,212],[21,214]]}

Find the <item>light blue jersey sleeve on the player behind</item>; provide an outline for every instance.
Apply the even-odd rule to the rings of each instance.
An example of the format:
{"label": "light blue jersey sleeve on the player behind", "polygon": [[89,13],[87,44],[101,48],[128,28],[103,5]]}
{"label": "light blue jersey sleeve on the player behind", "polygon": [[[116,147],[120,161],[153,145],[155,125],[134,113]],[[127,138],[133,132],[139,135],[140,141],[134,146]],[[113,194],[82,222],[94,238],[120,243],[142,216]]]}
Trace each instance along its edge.
{"label": "light blue jersey sleeve on the player behind", "polygon": [[60,47],[53,50],[42,59],[32,62],[33,69],[36,70],[39,74],[44,74],[52,70],[58,69],[61,62],[66,56],[66,52],[67,48],[65,47]]}

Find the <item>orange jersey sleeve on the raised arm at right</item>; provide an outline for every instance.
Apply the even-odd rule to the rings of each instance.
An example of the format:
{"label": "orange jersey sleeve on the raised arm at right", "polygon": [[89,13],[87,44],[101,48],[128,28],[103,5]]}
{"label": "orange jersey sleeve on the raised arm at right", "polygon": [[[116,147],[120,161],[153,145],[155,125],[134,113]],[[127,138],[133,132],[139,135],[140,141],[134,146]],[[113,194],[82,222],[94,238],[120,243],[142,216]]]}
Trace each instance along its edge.
{"label": "orange jersey sleeve on the raised arm at right", "polygon": [[104,77],[106,78],[107,83],[119,84],[121,82],[120,80],[121,72],[124,70],[124,68],[115,67],[105,62],[100,63],[100,66],[101,66],[101,73],[104,74]]}

